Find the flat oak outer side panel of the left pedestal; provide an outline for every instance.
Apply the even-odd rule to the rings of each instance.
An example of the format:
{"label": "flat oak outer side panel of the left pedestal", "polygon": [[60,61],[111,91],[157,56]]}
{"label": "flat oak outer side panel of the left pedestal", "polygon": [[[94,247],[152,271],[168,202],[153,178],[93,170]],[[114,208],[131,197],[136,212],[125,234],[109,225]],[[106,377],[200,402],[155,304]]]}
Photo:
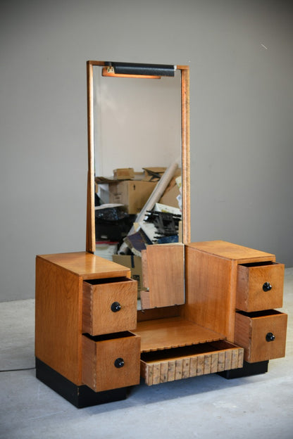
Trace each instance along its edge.
{"label": "flat oak outer side panel of the left pedestal", "polygon": [[82,279],[41,257],[36,268],[35,355],[80,386]]}

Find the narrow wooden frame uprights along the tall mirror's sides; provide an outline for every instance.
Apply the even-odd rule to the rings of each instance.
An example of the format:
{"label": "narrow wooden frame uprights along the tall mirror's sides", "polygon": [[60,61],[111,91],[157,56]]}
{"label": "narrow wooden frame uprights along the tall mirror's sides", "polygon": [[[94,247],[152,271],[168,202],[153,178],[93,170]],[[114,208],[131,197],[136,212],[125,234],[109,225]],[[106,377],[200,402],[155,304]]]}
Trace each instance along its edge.
{"label": "narrow wooden frame uprights along the tall mirror's sides", "polygon": [[[86,251],[96,250],[94,216],[94,66],[106,66],[106,61],[87,61],[87,234]],[[190,163],[189,163],[189,66],[176,65],[181,72],[181,132],[182,132],[182,241],[190,242]]]}

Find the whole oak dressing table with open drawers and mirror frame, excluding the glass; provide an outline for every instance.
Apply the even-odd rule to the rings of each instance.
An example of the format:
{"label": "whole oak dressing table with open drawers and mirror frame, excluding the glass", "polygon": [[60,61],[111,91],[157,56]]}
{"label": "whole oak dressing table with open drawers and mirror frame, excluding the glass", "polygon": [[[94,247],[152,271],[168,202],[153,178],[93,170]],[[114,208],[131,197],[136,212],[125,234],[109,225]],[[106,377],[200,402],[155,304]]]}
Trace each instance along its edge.
{"label": "whole oak dressing table with open drawers and mirror frame, excluding the glass", "polygon": [[[179,77],[182,242],[142,252],[140,310],[130,269],[94,254],[96,69],[112,81]],[[268,360],[285,356],[287,315],[275,310],[282,307],[284,265],[234,243],[190,243],[189,68],[88,61],[87,110],[86,249],[37,256],[37,378],[87,407],[124,399],[141,379],[151,386],[265,373]]]}

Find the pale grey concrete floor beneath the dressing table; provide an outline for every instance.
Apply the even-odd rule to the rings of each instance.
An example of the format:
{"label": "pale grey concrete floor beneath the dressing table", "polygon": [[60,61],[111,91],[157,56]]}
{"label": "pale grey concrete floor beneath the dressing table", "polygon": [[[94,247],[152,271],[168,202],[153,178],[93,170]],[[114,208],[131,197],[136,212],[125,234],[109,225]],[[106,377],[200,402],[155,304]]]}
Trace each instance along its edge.
{"label": "pale grey concrete floor beneath the dressing table", "polygon": [[[286,357],[267,374],[227,381],[213,374],[85,409],[35,378],[35,301],[0,303],[0,438],[293,438],[293,268],[285,270]],[[11,369],[18,369],[11,371]]]}

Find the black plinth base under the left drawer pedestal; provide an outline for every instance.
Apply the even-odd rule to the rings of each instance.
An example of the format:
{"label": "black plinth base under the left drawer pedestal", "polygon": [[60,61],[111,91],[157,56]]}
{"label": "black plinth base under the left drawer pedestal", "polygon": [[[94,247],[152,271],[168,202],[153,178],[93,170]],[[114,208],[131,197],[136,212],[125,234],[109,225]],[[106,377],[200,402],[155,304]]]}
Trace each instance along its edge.
{"label": "black plinth base under the left drawer pedestal", "polygon": [[125,400],[127,388],[94,392],[87,386],[76,386],[36,357],[36,376],[42,383],[55,390],[78,409],[106,402]]}

